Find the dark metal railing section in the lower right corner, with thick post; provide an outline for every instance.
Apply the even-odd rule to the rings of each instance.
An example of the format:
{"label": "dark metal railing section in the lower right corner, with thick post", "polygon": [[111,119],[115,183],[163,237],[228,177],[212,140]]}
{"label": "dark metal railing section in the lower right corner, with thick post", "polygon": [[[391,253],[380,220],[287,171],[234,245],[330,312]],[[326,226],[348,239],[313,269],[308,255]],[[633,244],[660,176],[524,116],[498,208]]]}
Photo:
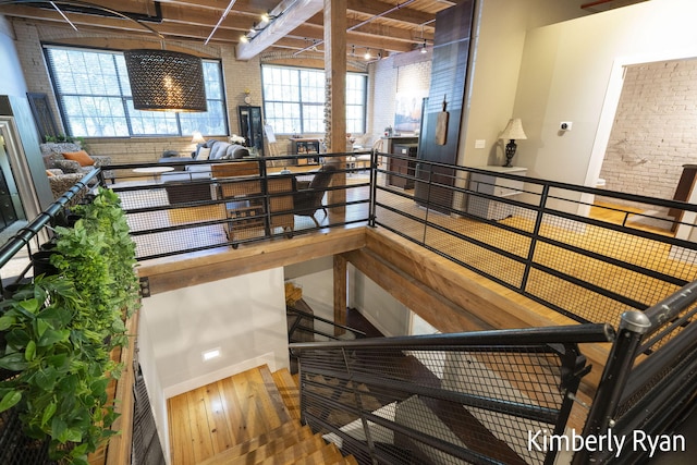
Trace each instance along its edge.
{"label": "dark metal railing section in the lower right corner, with thick post", "polygon": [[[675,431],[697,394],[696,303],[697,282],[692,282],[645,313],[623,314],[585,436],[612,429],[617,437],[640,431],[668,438]],[[680,445],[670,450],[677,452]],[[609,451],[584,450],[574,464],[638,463],[648,456],[643,446],[627,450],[621,460]]]}

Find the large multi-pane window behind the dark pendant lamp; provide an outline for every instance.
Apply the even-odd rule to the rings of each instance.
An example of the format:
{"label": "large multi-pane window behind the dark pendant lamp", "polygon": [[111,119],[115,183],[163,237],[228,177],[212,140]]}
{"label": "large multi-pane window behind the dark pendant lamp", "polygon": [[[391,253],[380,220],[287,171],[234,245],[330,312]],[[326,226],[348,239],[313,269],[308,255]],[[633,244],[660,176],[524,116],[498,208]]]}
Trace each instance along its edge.
{"label": "large multi-pane window behind the dark pendant lamp", "polygon": [[220,62],[204,60],[208,111],[179,113],[133,108],[123,53],[46,47],[58,105],[68,134],[77,137],[228,134]]}

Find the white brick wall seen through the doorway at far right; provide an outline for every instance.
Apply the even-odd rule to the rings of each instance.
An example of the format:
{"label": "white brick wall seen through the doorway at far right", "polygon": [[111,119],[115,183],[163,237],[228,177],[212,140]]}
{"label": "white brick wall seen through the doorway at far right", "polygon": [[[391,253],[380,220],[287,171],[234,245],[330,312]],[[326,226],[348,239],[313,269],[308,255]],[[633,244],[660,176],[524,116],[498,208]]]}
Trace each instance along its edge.
{"label": "white brick wall seen through the doorway at far right", "polygon": [[697,163],[697,59],[628,66],[600,178],[670,199],[686,163]]}

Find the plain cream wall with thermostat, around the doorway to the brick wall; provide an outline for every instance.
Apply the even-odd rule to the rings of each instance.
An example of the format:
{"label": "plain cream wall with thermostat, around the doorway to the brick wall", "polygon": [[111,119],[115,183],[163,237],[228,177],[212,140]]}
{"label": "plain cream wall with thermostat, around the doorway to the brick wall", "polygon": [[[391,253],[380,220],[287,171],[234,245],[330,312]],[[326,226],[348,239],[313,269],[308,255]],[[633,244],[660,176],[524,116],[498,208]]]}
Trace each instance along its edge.
{"label": "plain cream wall with thermostat, around the doorway to the brick wall", "polygon": [[[536,178],[594,183],[601,160],[591,154],[616,63],[694,48],[696,14],[693,0],[652,0],[529,30],[514,107],[528,138],[516,164]],[[573,131],[560,133],[561,121]]]}

